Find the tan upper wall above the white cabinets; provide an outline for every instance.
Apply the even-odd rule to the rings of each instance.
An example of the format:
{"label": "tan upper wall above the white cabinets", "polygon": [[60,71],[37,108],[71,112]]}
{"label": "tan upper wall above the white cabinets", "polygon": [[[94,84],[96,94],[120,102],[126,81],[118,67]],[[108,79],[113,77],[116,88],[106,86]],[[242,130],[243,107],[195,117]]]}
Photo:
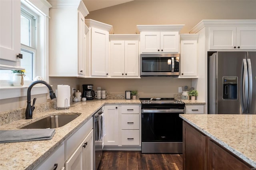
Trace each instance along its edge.
{"label": "tan upper wall above the white cabinets", "polygon": [[136,34],[136,25],[185,24],[188,33],[201,20],[256,19],[256,0],[135,0],[90,12],[87,19],[114,27],[115,34]]}

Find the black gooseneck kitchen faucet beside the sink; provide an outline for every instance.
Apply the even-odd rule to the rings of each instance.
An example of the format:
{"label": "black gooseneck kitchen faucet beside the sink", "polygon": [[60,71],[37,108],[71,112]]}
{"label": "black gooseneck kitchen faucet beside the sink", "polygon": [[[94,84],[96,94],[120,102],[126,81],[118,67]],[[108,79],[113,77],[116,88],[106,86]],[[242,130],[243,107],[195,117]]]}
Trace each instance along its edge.
{"label": "black gooseneck kitchen faucet beside the sink", "polygon": [[32,119],[32,116],[33,116],[33,111],[35,109],[35,102],[36,102],[36,98],[33,99],[33,105],[31,106],[31,96],[30,96],[30,92],[31,92],[31,89],[34,85],[38,84],[38,83],[42,83],[44,85],[46,85],[49,89],[49,92],[50,92],[50,98],[51,99],[54,99],[56,98],[55,96],[55,93],[53,92],[52,90],[52,87],[49,83],[47,83],[46,81],[41,81],[41,80],[38,80],[38,81],[34,81],[33,83],[31,83],[28,87],[28,95],[27,95],[27,108],[26,108],[26,112],[25,112],[25,116],[26,116],[26,119]]}

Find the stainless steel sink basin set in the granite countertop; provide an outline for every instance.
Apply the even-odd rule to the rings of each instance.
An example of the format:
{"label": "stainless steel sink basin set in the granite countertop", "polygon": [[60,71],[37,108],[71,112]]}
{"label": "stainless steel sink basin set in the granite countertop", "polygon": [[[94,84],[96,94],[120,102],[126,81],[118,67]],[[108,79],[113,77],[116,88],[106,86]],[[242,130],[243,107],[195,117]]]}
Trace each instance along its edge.
{"label": "stainless steel sink basin set in the granite countertop", "polygon": [[22,128],[58,128],[76,119],[79,115],[52,115]]}

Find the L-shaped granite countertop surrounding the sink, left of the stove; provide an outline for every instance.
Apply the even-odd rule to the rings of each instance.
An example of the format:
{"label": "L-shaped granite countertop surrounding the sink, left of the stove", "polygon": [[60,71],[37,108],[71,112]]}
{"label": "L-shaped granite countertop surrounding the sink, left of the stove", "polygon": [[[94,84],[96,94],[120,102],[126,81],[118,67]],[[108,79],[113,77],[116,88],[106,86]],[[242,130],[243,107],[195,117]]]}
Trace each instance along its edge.
{"label": "L-shaped granite countertop surrounding the sink, left of the stove", "polygon": [[[105,104],[140,104],[140,100],[93,100],[77,102],[69,109],[50,109],[45,112],[33,114],[33,119],[25,118],[0,126],[0,130],[19,129],[49,115],[78,114],[74,121],[63,127],[56,128],[56,133],[51,140],[30,142],[13,142],[0,144],[0,169],[32,169],[53,152],[70,134],[86,123],[98,109]],[[36,109],[35,109],[36,110]]]}

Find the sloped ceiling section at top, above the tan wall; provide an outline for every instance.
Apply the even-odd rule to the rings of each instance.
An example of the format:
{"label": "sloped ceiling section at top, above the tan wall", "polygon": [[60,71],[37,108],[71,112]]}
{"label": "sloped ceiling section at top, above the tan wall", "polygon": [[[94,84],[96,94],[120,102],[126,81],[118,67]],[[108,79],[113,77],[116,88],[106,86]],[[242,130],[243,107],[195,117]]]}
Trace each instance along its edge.
{"label": "sloped ceiling section at top, above the tan wall", "polygon": [[118,4],[123,4],[133,0],[83,0],[87,10],[94,11],[102,8],[107,8],[109,6],[115,6]]}

